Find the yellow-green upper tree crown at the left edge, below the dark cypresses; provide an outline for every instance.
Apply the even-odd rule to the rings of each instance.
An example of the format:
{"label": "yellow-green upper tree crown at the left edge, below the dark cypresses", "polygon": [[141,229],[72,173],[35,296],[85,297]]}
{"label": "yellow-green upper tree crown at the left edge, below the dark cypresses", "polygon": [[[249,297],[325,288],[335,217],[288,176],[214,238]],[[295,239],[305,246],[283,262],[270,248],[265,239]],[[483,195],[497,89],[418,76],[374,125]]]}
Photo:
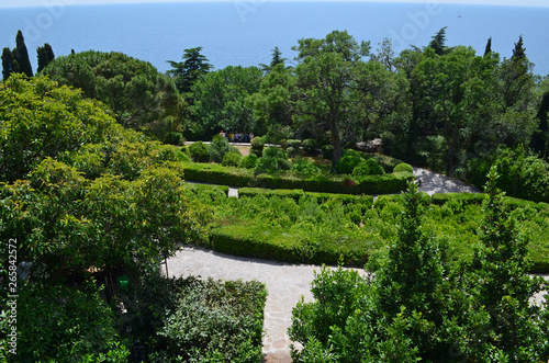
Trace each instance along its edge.
{"label": "yellow-green upper tree crown at the left edge, below the dark cypresses", "polygon": [[104,106],[43,77],[10,77],[0,84],[0,99],[3,181],[24,179],[47,157],[126,136]]}

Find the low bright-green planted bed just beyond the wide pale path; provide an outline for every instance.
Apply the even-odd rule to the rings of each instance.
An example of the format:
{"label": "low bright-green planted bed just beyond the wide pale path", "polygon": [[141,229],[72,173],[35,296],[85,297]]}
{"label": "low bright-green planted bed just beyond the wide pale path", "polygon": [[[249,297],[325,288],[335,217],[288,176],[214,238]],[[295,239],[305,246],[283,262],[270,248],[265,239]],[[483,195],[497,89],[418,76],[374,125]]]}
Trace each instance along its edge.
{"label": "low bright-green planted bed just beyond the wide pale path", "polygon": [[[240,189],[239,195],[243,198],[216,200],[221,207],[214,212],[213,247],[227,253],[287,261],[335,264],[343,253],[347,263],[361,265],[383,254],[394,241],[403,212],[402,195],[380,196],[373,209],[371,196],[257,189]],[[284,198],[290,201],[282,202]],[[422,205],[428,206],[423,228],[445,238],[457,259],[469,260],[479,241],[480,204],[484,198],[484,194],[435,194],[432,202],[421,193]],[[505,201],[523,232],[530,237],[530,271],[549,271],[549,206]]]}

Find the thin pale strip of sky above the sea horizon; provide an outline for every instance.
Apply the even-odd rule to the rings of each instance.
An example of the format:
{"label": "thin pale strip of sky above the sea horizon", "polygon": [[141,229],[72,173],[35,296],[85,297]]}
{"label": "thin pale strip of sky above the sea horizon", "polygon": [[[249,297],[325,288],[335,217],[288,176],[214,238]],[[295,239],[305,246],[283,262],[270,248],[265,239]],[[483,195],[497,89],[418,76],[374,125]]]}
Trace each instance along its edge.
{"label": "thin pale strip of sky above the sea horizon", "polygon": [[[1,0],[0,8],[19,7],[47,7],[60,4],[104,4],[104,3],[136,3],[136,2],[184,2],[192,0]],[[204,0],[202,0],[204,1]],[[220,1],[220,0],[210,0]],[[258,2],[258,1],[281,1],[281,0],[221,0],[233,2]],[[298,0],[298,1],[318,1],[318,0]],[[349,0],[348,0],[349,1]],[[381,2],[423,2],[421,0],[350,0],[350,1],[381,1]],[[549,8],[549,0],[426,0],[426,2],[439,3],[477,3],[494,5],[519,5],[519,7],[544,7]]]}

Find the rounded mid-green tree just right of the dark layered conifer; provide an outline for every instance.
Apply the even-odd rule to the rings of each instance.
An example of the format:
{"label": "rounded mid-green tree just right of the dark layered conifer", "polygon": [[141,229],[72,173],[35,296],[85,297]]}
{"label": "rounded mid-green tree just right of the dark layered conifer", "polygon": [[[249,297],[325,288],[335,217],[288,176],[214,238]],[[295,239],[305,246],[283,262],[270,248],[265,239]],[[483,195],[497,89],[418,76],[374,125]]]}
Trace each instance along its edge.
{"label": "rounded mid-green tree just right of the dark layered conifer", "polygon": [[257,67],[233,67],[209,72],[192,88],[197,135],[210,139],[221,129],[255,132],[253,110],[246,104],[259,89],[262,72]]}

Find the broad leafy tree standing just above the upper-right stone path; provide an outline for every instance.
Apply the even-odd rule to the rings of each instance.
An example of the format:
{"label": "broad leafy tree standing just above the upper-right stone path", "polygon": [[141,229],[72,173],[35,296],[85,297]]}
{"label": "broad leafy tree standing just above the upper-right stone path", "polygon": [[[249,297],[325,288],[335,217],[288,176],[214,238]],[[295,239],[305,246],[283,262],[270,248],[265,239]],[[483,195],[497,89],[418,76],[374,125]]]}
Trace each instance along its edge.
{"label": "broad leafy tree standing just above the upper-right stone path", "polygon": [[[456,47],[442,56],[427,48],[423,60],[414,68],[411,75],[413,127],[427,143],[422,137],[412,139],[415,143],[412,148],[417,154],[434,154],[430,158],[436,160],[446,155],[446,162],[430,161],[432,168],[446,169],[453,175],[458,156],[469,148],[478,129],[490,123],[493,113],[498,111],[494,104],[497,101],[494,97],[495,63],[495,58],[477,56],[471,47]],[[440,136],[445,143],[437,149],[436,140]]]}

